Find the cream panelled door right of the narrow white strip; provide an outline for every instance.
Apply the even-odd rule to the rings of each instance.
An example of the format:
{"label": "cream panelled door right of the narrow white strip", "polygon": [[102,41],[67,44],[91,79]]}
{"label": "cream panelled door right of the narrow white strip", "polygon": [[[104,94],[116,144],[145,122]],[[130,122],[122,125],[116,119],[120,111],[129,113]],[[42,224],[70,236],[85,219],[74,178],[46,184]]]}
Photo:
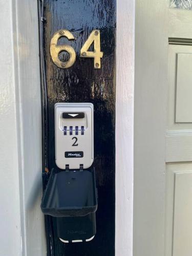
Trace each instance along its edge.
{"label": "cream panelled door right of the narrow white strip", "polygon": [[192,1],[136,1],[134,256],[192,255]]}

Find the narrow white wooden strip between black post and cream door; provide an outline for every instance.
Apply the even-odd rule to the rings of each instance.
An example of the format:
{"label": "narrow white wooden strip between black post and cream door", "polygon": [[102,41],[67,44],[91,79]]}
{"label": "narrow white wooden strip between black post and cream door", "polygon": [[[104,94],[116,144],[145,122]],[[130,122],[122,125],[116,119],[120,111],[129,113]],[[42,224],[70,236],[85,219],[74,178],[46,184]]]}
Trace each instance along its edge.
{"label": "narrow white wooden strip between black post and cream door", "polygon": [[135,0],[117,1],[116,255],[133,255]]}

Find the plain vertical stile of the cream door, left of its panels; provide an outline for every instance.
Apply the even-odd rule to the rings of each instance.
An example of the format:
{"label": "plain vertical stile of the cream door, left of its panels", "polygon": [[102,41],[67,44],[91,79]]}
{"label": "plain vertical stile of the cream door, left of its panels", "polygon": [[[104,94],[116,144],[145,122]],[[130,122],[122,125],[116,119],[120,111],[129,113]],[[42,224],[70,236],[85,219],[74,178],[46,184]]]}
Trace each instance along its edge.
{"label": "plain vertical stile of the cream door, left of its panels", "polygon": [[136,0],[134,256],[164,255],[167,14],[167,0]]}

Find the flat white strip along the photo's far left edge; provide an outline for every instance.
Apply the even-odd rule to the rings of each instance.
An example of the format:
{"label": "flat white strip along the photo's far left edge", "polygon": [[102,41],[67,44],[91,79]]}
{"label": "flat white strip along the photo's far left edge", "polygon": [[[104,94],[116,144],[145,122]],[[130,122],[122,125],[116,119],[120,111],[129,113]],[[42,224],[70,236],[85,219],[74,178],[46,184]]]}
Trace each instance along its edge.
{"label": "flat white strip along the photo's far left edge", "polygon": [[21,241],[11,1],[3,0],[0,6],[0,255],[17,256]]}

